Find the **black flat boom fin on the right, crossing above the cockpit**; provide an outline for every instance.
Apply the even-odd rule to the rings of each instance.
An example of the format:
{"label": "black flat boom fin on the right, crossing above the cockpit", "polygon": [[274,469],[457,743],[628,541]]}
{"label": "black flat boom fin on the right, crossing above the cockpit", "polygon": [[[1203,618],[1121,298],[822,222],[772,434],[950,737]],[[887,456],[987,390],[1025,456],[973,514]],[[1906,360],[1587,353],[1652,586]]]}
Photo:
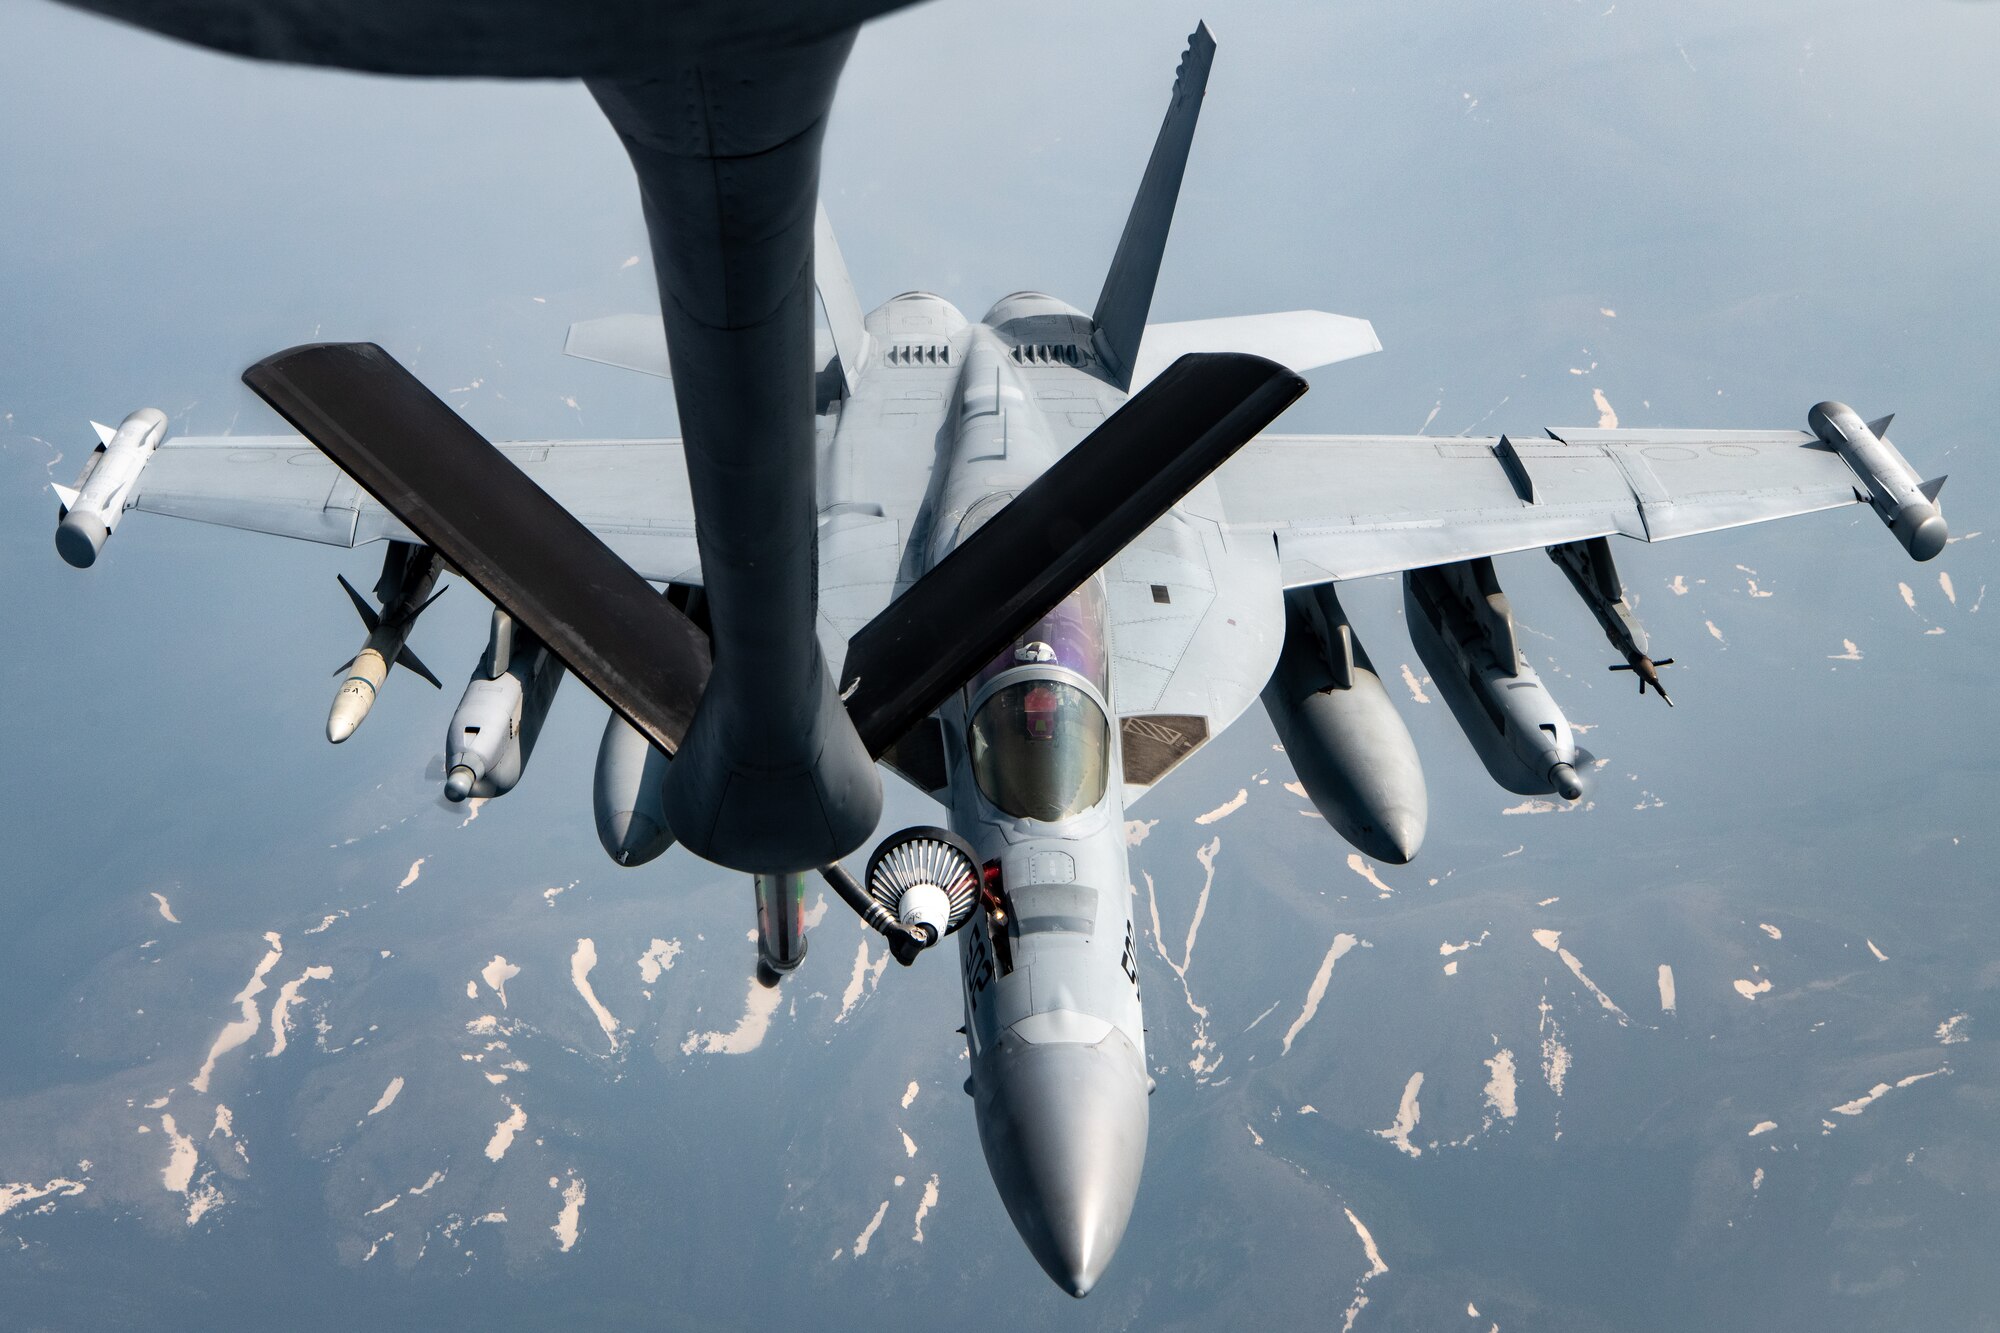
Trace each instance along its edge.
{"label": "black flat boom fin on the right, crossing above the cockpit", "polygon": [[840,697],[884,755],[952,691],[1242,448],[1306,382],[1256,356],[1184,356],[864,624]]}

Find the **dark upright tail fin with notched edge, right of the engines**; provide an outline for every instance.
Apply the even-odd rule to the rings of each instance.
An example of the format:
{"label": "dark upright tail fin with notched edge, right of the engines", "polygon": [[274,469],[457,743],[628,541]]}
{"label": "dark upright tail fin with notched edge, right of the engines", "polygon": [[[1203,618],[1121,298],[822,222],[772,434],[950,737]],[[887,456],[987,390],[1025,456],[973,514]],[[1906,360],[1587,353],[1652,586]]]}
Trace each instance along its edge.
{"label": "dark upright tail fin with notched edge, right of the engines", "polygon": [[1096,320],[1098,354],[1118,388],[1132,386],[1138,364],[1138,344],[1146,334],[1146,312],[1152,308],[1152,288],[1160,280],[1160,254],[1166,232],[1174,224],[1174,200],[1180,198],[1180,176],[1188,168],[1188,148],[1194,144],[1194,122],[1202,114],[1202,92],[1208,88],[1208,66],[1216,58],[1216,40],[1208,24],[1198,24],[1188,36],[1188,50],[1174,76],[1174,98],[1166,106],[1160,138],[1152,144],[1146,178],[1138,184],[1132,214],[1118,238],[1112,270],[1104,274]]}

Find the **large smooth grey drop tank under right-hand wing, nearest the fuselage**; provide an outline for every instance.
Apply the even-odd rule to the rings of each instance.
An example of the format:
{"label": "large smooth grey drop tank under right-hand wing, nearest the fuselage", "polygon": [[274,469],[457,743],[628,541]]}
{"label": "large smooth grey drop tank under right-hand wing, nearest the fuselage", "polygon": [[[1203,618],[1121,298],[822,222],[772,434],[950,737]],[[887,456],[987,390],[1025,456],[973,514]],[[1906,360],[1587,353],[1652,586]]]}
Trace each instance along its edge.
{"label": "large smooth grey drop tank under right-hand wing, nearest the fuselage", "polygon": [[1284,594],[1264,711],[1326,823],[1376,861],[1408,863],[1430,823],[1424,767],[1332,584]]}

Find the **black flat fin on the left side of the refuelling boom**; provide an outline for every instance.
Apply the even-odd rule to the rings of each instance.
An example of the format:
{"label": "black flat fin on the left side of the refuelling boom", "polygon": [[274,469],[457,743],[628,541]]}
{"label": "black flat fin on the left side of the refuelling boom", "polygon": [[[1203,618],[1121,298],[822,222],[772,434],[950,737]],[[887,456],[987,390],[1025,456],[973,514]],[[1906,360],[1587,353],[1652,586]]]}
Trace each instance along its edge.
{"label": "black flat fin on the left side of the refuelling boom", "polygon": [[372,342],[268,356],[244,384],[672,755],[708,636]]}

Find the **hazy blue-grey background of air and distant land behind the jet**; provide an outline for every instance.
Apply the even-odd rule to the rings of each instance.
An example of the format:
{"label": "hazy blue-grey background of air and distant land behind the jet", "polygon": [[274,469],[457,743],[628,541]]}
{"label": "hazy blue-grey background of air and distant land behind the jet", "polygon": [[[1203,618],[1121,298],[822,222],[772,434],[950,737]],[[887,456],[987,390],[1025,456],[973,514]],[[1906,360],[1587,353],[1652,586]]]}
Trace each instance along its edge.
{"label": "hazy blue-grey background of air and distant land behind the jet", "polygon": [[[864,30],[824,176],[864,304],[930,288],[978,316],[1034,286],[1088,308],[1202,16],[1180,0],[938,0]],[[670,432],[662,382],[560,356],[570,320],[654,300],[630,262],[630,172],[584,92],[254,66],[16,0],[0,10],[0,614],[16,646],[0,666],[0,1183],[40,1187],[78,1157],[94,1175],[48,1217],[0,1215],[30,1245],[0,1293],[54,1325],[80,1309],[144,1325],[160,1291],[226,1323],[296,1285],[324,1311],[498,1325],[546,1299],[708,1327],[802,1309],[838,1327],[878,1327],[882,1309],[972,1327],[1338,1327],[1372,1271],[1362,1219],[1388,1265],[1366,1283],[1364,1331],[1446,1315],[1484,1329],[1468,1303],[1504,1329],[1778,1329],[1808,1313],[1970,1327],[1990,1309],[1996,644],[1978,606],[2000,570],[1972,534],[2000,498],[2000,6],[1314,0],[1206,16],[1220,50],[1154,314],[1316,306],[1374,320],[1386,346],[1316,372],[1284,428],[1536,430],[1606,410],[1800,428],[1834,396],[1898,414],[1918,470],[1952,474],[1944,508],[1968,540],[1912,566],[1850,510],[1622,542],[1654,642],[1680,658],[1672,713],[1604,673],[1602,636],[1548,560],[1504,560],[1524,642],[1612,761],[1608,791],[1578,817],[1508,815],[1516,799],[1444,711],[1410,697],[1432,835],[1416,865],[1368,867],[1388,897],[1282,795],[1256,711],[1148,797],[1136,815],[1160,823],[1132,869],[1154,1143],[1126,1249],[1074,1305],[986,1181],[956,1091],[952,969],[856,981],[858,939],[828,921],[762,1053],[688,1055],[690,1035],[746,1013],[748,891],[678,853],[632,875],[602,859],[600,705],[568,687],[534,771],[478,823],[436,807],[426,765],[484,644],[468,588],[414,642],[444,697],[404,677],[330,751],[328,673],[360,640],[334,572],[370,580],[374,550],[148,516],[92,570],[52,550],[46,484],[74,476],[90,418],[156,404],[178,432],[274,430],[236,376],[314,336],[382,342],[494,438]],[[1416,664],[1392,582],[1348,604],[1390,673]],[[1238,813],[1194,825],[1238,791]],[[892,795],[892,823],[932,817]],[[330,913],[352,915],[308,939]],[[200,1115],[206,1133],[212,1107],[186,1079],[266,931],[288,949],[272,989],[336,969],[304,991],[332,1035],[314,1047],[300,1029],[282,1057],[264,1035],[218,1083],[248,1165],[230,1175],[230,1141],[202,1139],[200,1169],[230,1201],[190,1229],[160,1187],[156,1117],[186,1133]],[[1560,931],[1630,1027],[1532,931]],[[1440,941],[1482,933],[1448,983]],[[632,1059],[602,1053],[576,1001],[580,937]],[[1356,943],[1310,1017],[1342,937]],[[654,939],[686,953],[642,999],[634,959]],[[464,989],[494,955],[526,965],[506,1015],[532,1029],[514,1041],[534,1069],[506,1087],[476,1077],[490,1067],[464,1029],[482,1013]],[[1676,1021],[1654,1001],[1660,965],[1680,977]],[[1774,991],[1746,1001],[1736,983],[1754,979]],[[844,1007],[852,985],[872,999]],[[1956,1013],[1972,1039],[1946,1049],[1934,1031]],[[1560,1097],[1536,1057],[1550,1023],[1576,1057]],[[1214,1077],[1190,1071],[1198,1041],[1230,1061]],[[1520,1117],[1482,1125],[1502,1047],[1520,1057]],[[1830,1111],[1940,1061],[1948,1077],[1866,1115]],[[1476,1147],[1414,1159],[1378,1135],[1418,1071],[1424,1133]],[[406,1119],[354,1129],[390,1075],[410,1079]],[[906,1085],[922,1087],[914,1107]],[[170,1107],[144,1111],[168,1089]],[[502,1097],[530,1131],[504,1167],[482,1165]],[[1840,1133],[1822,1137],[1820,1117]],[[1748,1135],[1762,1119],[1782,1145]],[[368,1209],[446,1161],[454,1183],[398,1195],[394,1215],[514,1209],[512,1231],[478,1233],[506,1239],[470,1243],[478,1261],[440,1241],[422,1263],[388,1247],[394,1271],[360,1267],[390,1229],[362,1223]],[[556,1267],[562,1191],[546,1181],[570,1171],[590,1203]],[[932,1173],[942,1203],[916,1243]],[[856,1261],[884,1197],[890,1221]],[[408,1241],[448,1223],[398,1225]],[[994,1291],[1020,1291],[1018,1307]]]}

